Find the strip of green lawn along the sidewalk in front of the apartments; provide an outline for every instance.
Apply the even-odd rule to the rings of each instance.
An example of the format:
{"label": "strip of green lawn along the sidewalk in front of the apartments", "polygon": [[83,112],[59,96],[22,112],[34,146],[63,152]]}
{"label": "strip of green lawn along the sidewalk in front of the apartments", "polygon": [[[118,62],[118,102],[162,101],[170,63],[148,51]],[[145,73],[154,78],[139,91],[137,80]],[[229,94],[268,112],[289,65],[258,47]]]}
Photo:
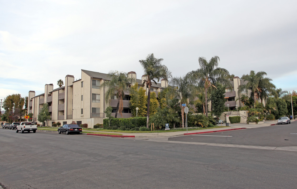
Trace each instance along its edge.
{"label": "strip of green lawn along the sidewalk in front of the apartments", "polygon": [[[214,129],[214,128],[223,128],[228,126],[215,126],[215,127],[206,127],[206,128],[196,128],[196,129],[188,129],[188,131],[194,130],[203,130],[203,129]],[[44,129],[45,128],[45,129]],[[43,130],[53,130],[58,129],[58,127],[38,127],[38,129]],[[83,132],[88,131],[100,131],[100,132],[121,132],[121,133],[154,133],[154,132],[177,132],[177,131],[187,131],[187,128],[184,129],[172,129],[172,130],[155,130],[155,131],[122,131],[122,130],[111,130],[111,129],[92,129],[92,128],[83,128]],[[98,134],[98,132],[95,132]],[[111,134],[111,133],[104,133]],[[114,134],[113,134],[114,135]]]}

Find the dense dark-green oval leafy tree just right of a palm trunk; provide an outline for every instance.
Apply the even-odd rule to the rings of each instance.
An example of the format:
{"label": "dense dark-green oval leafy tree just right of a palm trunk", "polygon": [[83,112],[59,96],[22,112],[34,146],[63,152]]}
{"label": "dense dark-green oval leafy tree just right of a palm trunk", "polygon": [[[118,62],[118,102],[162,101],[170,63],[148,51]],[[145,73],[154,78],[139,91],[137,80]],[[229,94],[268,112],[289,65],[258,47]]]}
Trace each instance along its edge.
{"label": "dense dark-green oval leafy tree just right of a palm trunk", "polygon": [[213,113],[217,117],[220,117],[221,114],[225,110],[225,87],[222,86],[221,84],[217,85],[217,90],[214,90],[211,93],[211,100],[212,100],[212,106],[213,108]]}

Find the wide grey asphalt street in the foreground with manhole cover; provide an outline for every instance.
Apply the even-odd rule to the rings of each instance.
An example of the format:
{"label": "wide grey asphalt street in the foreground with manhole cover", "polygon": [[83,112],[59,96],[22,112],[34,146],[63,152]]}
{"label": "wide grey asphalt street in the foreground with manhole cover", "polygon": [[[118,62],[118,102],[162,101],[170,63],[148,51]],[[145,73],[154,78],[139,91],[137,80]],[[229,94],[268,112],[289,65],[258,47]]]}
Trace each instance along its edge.
{"label": "wide grey asphalt street in the foreground with manhole cover", "polygon": [[0,129],[0,144],[0,183],[6,189],[287,189],[297,184],[297,153],[291,151],[9,129]]}

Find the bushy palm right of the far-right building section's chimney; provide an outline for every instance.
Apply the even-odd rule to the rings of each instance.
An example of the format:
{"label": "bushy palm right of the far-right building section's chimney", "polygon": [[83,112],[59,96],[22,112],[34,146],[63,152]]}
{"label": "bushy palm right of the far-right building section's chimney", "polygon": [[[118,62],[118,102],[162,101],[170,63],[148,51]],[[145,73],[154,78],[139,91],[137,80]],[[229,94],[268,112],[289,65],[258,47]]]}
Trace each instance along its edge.
{"label": "bushy palm right of the far-right building section's chimney", "polygon": [[247,83],[244,85],[240,85],[238,88],[238,92],[251,90],[254,97],[254,107],[256,105],[256,101],[259,98],[267,98],[267,92],[272,92],[272,89],[275,88],[275,85],[271,83],[272,79],[264,77],[266,75],[267,73],[264,71],[255,73],[255,71],[252,70],[249,74],[243,75],[241,77],[241,79],[244,79],[245,81],[247,81]]}

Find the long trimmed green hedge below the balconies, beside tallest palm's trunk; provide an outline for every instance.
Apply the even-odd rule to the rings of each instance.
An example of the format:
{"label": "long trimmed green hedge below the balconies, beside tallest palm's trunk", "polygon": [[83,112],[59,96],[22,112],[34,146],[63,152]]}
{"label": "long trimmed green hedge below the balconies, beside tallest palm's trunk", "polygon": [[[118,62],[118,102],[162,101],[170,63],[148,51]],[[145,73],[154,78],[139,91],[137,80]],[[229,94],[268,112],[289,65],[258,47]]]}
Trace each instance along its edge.
{"label": "long trimmed green hedge below the balconies, beside tallest palm's trunk", "polygon": [[146,117],[113,118],[109,126],[109,119],[103,120],[104,129],[135,130],[135,127],[146,127]]}

